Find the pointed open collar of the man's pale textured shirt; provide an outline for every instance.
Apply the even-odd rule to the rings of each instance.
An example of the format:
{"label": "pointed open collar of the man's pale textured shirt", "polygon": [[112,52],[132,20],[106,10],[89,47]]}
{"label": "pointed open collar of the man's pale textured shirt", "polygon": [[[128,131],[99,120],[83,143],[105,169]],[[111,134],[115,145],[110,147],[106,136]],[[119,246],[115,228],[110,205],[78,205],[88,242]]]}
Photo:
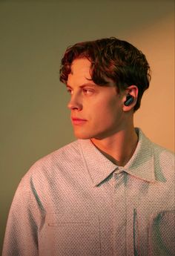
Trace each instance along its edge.
{"label": "pointed open collar of the man's pale textured shirt", "polygon": [[98,186],[104,180],[108,179],[114,171],[119,173],[125,171],[133,177],[155,182],[154,158],[151,141],[145,137],[141,129],[136,128],[139,141],[131,160],[124,166],[117,166],[106,158],[90,140],[79,140],[82,148],[82,155],[89,171],[94,186]]}

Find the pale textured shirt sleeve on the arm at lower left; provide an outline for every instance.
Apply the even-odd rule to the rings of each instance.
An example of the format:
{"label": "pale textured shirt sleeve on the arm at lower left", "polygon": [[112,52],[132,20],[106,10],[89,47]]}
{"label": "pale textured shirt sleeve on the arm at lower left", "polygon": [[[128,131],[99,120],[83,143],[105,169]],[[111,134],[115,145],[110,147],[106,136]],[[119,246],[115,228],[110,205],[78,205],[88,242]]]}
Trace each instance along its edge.
{"label": "pale textured shirt sleeve on the arm at lower left", "polygon": [[30,186],[22,180],[10,207],[2,256],[39,255],[37,211]]}

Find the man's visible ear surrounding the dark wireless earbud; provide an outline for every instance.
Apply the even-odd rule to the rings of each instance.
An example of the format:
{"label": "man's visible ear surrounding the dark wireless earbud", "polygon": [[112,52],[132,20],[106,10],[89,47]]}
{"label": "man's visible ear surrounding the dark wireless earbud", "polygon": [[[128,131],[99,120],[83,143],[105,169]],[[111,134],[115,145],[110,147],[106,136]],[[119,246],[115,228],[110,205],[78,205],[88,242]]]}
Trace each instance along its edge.
{"label": "man's visible ear surrounding the dark wireless earbud", "polygon": [[[130,85],[125,89],[123,96],[123,111],[131,111],[131,109],[133,109],[133,107],[136,105],[138,93],[139,90],[136,85]],[[128,105],[125,105],[125,103],[128,102],[128,96],[131,96],[132,100]]]}

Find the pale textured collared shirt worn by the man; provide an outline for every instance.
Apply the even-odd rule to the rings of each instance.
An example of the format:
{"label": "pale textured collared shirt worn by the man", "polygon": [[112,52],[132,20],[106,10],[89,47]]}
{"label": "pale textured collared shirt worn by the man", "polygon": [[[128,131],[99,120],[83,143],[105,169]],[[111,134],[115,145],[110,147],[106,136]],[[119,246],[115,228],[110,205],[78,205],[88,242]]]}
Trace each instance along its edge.
{"label": "pale textured collared shirt worn by the man", "polygon": [[90,140],[37,161],[13,198],[2,255],[175,255],[174,155],[136,131],[124,167]]}

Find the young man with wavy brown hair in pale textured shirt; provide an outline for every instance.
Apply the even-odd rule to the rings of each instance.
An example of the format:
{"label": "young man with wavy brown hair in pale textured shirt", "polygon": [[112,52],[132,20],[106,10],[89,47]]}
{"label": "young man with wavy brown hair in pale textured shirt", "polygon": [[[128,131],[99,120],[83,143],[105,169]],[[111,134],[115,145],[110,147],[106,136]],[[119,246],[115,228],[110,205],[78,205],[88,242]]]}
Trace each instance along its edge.
{"label": "young man with wavy brown hair in pale textured shirt", "polygon": [[3,255],[174,255],[174,156],[133,126],[145,55],[116,38],[81,42],[60,80],[78,140],[25,174]]}

